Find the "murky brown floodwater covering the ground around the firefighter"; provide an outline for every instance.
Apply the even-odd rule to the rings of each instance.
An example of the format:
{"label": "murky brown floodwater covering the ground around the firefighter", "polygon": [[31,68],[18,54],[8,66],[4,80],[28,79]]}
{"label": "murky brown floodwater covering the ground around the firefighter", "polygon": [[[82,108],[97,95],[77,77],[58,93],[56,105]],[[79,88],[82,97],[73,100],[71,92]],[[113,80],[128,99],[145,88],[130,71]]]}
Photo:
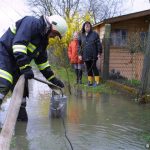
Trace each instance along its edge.
{"label": "murky brown floodwater covering the ground around the firefighter", "polygon": [[[30,82],[28,123],[17,122],[11,150],[146,150],[150,144],[150,105],[127,94],[67,94],[63,120],[49,118],[51,91]],[[4,104],[6,105],[6,104]]]}

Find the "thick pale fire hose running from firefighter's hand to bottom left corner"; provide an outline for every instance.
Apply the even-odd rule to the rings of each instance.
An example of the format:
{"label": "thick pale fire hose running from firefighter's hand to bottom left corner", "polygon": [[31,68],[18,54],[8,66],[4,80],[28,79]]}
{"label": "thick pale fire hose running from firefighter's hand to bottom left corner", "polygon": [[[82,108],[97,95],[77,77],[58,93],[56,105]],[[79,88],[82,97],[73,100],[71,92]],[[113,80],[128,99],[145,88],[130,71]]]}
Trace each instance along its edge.
{"label": "thick pale fire hose running from firefighter's hand to bottom left corner", "polygon": [[9,150],[10,148],[11,138],[13,136],[17,116],[22,102],[24,82],[24,75],[22,75],[13,90],[6,119],[0,133],[0,150]]}

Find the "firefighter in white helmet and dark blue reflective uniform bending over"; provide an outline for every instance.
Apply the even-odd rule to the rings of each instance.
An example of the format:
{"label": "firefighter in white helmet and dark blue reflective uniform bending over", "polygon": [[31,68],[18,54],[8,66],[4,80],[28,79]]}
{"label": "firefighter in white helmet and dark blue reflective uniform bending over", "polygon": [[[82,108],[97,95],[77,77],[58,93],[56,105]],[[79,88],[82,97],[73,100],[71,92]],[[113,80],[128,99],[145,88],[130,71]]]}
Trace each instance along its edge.
{"label": "firefighter in white helmet and dark blue reflective uniform bending over", "polygon": [[[30,66],[33,59],[48,81],[64,87],[63,82],[51,70],[46,48],[49,38],[61,38],[66,31],[67,23],[59,15],[40,18],[26,16],[8,28],[0,38],[0,103],[8,91],[13,90],[20,75],[24,74],[25,83],[34,78]],[[28,90],[25,90],[24,97],[27,95]],[[25,109],[25,106],[26,101],[22,102],[21,108]],[[27,116],[25,119],[27,120]]]}

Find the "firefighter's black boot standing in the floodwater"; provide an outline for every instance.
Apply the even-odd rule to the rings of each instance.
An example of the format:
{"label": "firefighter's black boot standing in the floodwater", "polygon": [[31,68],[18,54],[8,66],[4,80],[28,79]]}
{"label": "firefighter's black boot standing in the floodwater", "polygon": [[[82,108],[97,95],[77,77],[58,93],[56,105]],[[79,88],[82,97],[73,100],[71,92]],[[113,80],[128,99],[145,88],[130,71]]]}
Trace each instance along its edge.
{"label": "firefighter's black boot standing in the floodwater", "polygon": [[28,115],[27,115],[27,111],[26,111],[26,99],[25,98],[23,98],[23,100],[22,100],[17,121],[22,121],[22,122],[28,121]]}

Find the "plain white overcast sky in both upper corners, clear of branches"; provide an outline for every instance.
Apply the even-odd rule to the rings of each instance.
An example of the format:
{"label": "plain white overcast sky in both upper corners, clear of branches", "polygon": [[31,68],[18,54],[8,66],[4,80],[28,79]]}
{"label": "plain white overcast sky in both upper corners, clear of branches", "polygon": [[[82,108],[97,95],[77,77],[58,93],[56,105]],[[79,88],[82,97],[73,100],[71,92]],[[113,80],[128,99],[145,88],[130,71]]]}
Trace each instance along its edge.
{"label": "plain white overcast sky in both upper corners, clear of branches", "polygon": [[[31,15],[27,0],[0,0],[0,36],[16,20]],[[126,14],[150,9],[149,0],[128,0]]]}

